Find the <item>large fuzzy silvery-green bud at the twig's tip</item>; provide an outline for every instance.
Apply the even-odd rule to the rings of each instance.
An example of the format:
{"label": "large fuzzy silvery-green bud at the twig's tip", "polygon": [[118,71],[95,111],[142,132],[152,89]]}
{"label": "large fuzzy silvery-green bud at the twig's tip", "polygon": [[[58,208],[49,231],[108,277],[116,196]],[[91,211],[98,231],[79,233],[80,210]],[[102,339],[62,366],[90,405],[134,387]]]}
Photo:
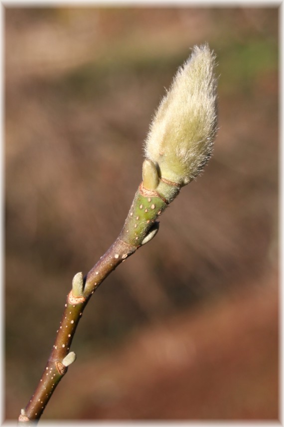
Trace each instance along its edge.
{"label": "large fuzzy silvery-green bud at the twig's tip", "polygon": [[209,46],[194,46],[155,113],[144,151],[162,178],[185,185],[211,156],[217,129],[214,67]]}

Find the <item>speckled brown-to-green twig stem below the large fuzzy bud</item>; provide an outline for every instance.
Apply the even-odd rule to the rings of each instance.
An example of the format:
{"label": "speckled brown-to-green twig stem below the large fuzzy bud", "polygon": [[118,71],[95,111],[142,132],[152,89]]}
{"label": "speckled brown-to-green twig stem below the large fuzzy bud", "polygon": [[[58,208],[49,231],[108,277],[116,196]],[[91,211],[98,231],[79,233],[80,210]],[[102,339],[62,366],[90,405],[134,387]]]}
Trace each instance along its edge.
{"label": "speckled brown-to-green twig stem below the large fuzzy bud", "polygon": [[145,189],[143,183],[140,185],[119,237],[89,271],[82,286],[79,283],[75,289],[73,284],[73,292],[71,290],[67,295],[51,354],[33,396],[21,410],[19,424],[31,425],[38,422],[56,386],[66,374],[67,366],[72,363],[66,362],[66,356],[70,355],[77,325],[90,297],[121,262],[154,237],[158,229],[156,219],[178,192],[177,186],[162,181],[155,191]]}

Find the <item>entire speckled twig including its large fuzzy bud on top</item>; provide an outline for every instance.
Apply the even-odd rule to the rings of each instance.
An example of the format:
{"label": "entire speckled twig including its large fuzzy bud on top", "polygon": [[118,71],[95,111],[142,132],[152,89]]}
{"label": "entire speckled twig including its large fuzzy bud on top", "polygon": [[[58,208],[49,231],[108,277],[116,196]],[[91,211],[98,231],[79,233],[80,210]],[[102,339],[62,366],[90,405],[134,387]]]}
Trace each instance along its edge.
{"label": "entire speckled twig including its large fuzzy bud on top", "polygon": [[142,183],[124,227],[85,278],[82,273],[74,276],[51,354],[32,398],[21,410],[19,424],[37,423],[76,359],[70,347],[92,294],[121,262],[155,236],[156,219],[210,158],[217,125],[213,68],[214,56],[208,46],[195,46],[162,99],[146,141]]}

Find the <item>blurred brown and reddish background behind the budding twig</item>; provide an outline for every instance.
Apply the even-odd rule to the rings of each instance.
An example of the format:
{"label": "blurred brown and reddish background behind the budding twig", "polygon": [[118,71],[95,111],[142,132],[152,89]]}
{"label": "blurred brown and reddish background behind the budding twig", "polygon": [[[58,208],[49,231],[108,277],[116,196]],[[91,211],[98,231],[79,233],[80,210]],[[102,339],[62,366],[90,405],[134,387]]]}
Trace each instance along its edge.
{"label": "blurred brown and reddish background behind the budding twig", "polygon": [[276,7],[5,9],[5,411],[40,378],[75,273],[119,234],[152,114],[218,58],[212,160],[90,300],[44,420],[278,418]]}

